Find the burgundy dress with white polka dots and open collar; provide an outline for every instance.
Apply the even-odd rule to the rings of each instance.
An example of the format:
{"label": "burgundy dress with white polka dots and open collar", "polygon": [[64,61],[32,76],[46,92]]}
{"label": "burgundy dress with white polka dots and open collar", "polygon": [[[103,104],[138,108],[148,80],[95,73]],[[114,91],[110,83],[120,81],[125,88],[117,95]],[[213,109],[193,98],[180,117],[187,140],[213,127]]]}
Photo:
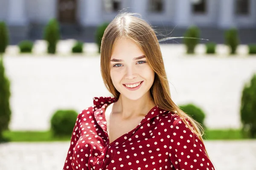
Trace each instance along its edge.
{"label": "burgundy dress with white polka dots and open collar", "polygon": [[95,97],[79,113],[64,170],[215,170],[200,139],[177,114],[157,106],[109,143],[105,107],[113,102]]}

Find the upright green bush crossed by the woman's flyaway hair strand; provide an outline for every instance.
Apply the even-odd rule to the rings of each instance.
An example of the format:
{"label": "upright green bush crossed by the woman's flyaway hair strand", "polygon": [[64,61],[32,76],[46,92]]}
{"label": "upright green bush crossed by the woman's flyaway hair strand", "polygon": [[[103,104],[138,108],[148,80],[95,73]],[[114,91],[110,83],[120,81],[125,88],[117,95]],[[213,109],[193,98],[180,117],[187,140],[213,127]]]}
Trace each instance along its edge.
{"label": "upright green bush crossed by the woman's flyaway hair strand", "polygon": [[[184,37],[194,37],[199,38],[200,37],[200,30],[197,26],[191,26],[189,27]],[[194,54],[195,53],[195,47],[199,42],[199,39],[191,39],[191,38],[184,38],[183,39],[184,44],[186,45],[187,54]]]}

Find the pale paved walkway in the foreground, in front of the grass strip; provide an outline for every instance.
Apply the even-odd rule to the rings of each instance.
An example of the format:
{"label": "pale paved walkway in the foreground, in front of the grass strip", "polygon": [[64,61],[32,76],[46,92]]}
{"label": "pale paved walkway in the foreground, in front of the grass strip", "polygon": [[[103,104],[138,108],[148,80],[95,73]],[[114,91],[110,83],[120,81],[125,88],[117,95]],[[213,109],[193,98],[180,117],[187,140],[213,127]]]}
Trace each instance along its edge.
{"label": "pale paved walkway in the foreground, in front of the grass strip", "polygon": [[[206,141],[216,170],[256,170],[256,140]],[[0,170],[61,170],[69,142],[0,144]]]}

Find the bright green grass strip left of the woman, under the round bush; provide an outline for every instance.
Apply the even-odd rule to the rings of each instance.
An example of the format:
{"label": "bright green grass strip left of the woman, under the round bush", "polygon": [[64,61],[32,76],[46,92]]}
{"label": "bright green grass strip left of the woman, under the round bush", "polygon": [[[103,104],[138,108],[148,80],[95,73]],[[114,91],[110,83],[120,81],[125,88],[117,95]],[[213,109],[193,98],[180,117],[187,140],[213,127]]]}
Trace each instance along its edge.
{"label": "bright green grass strip left of the woman, under the round bush", "polygon": [[51,131],[5,131],[3,137],[10,142],[70,141],[70,136],[53,137]]}

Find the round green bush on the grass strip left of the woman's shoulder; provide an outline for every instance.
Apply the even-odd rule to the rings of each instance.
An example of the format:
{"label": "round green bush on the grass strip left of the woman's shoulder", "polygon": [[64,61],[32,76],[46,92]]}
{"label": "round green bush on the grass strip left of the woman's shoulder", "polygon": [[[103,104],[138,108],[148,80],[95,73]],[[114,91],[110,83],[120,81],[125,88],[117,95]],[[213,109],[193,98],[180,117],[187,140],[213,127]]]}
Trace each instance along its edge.
{"label": "round green bush on the grass strip left of the woman's shoulder", "polygon": [[74,110],[58,110],[51,118],[51,130],[54,136],[70,136],[78,113]]}

